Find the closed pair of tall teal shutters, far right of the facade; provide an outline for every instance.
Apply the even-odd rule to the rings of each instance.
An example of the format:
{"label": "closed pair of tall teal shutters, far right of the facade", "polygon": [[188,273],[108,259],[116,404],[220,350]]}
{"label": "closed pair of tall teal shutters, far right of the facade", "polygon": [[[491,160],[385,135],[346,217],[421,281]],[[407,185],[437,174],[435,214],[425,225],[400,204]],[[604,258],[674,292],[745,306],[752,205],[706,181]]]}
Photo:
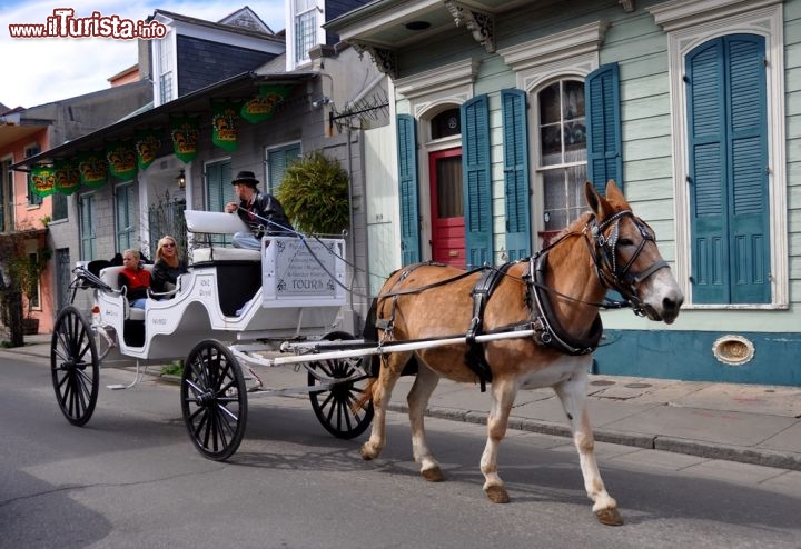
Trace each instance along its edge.
{"label": "closed pair of tall teal shutters, far right of the facade", "polygon": [[686,58],[693,302],[770,302],[764,39]]}

